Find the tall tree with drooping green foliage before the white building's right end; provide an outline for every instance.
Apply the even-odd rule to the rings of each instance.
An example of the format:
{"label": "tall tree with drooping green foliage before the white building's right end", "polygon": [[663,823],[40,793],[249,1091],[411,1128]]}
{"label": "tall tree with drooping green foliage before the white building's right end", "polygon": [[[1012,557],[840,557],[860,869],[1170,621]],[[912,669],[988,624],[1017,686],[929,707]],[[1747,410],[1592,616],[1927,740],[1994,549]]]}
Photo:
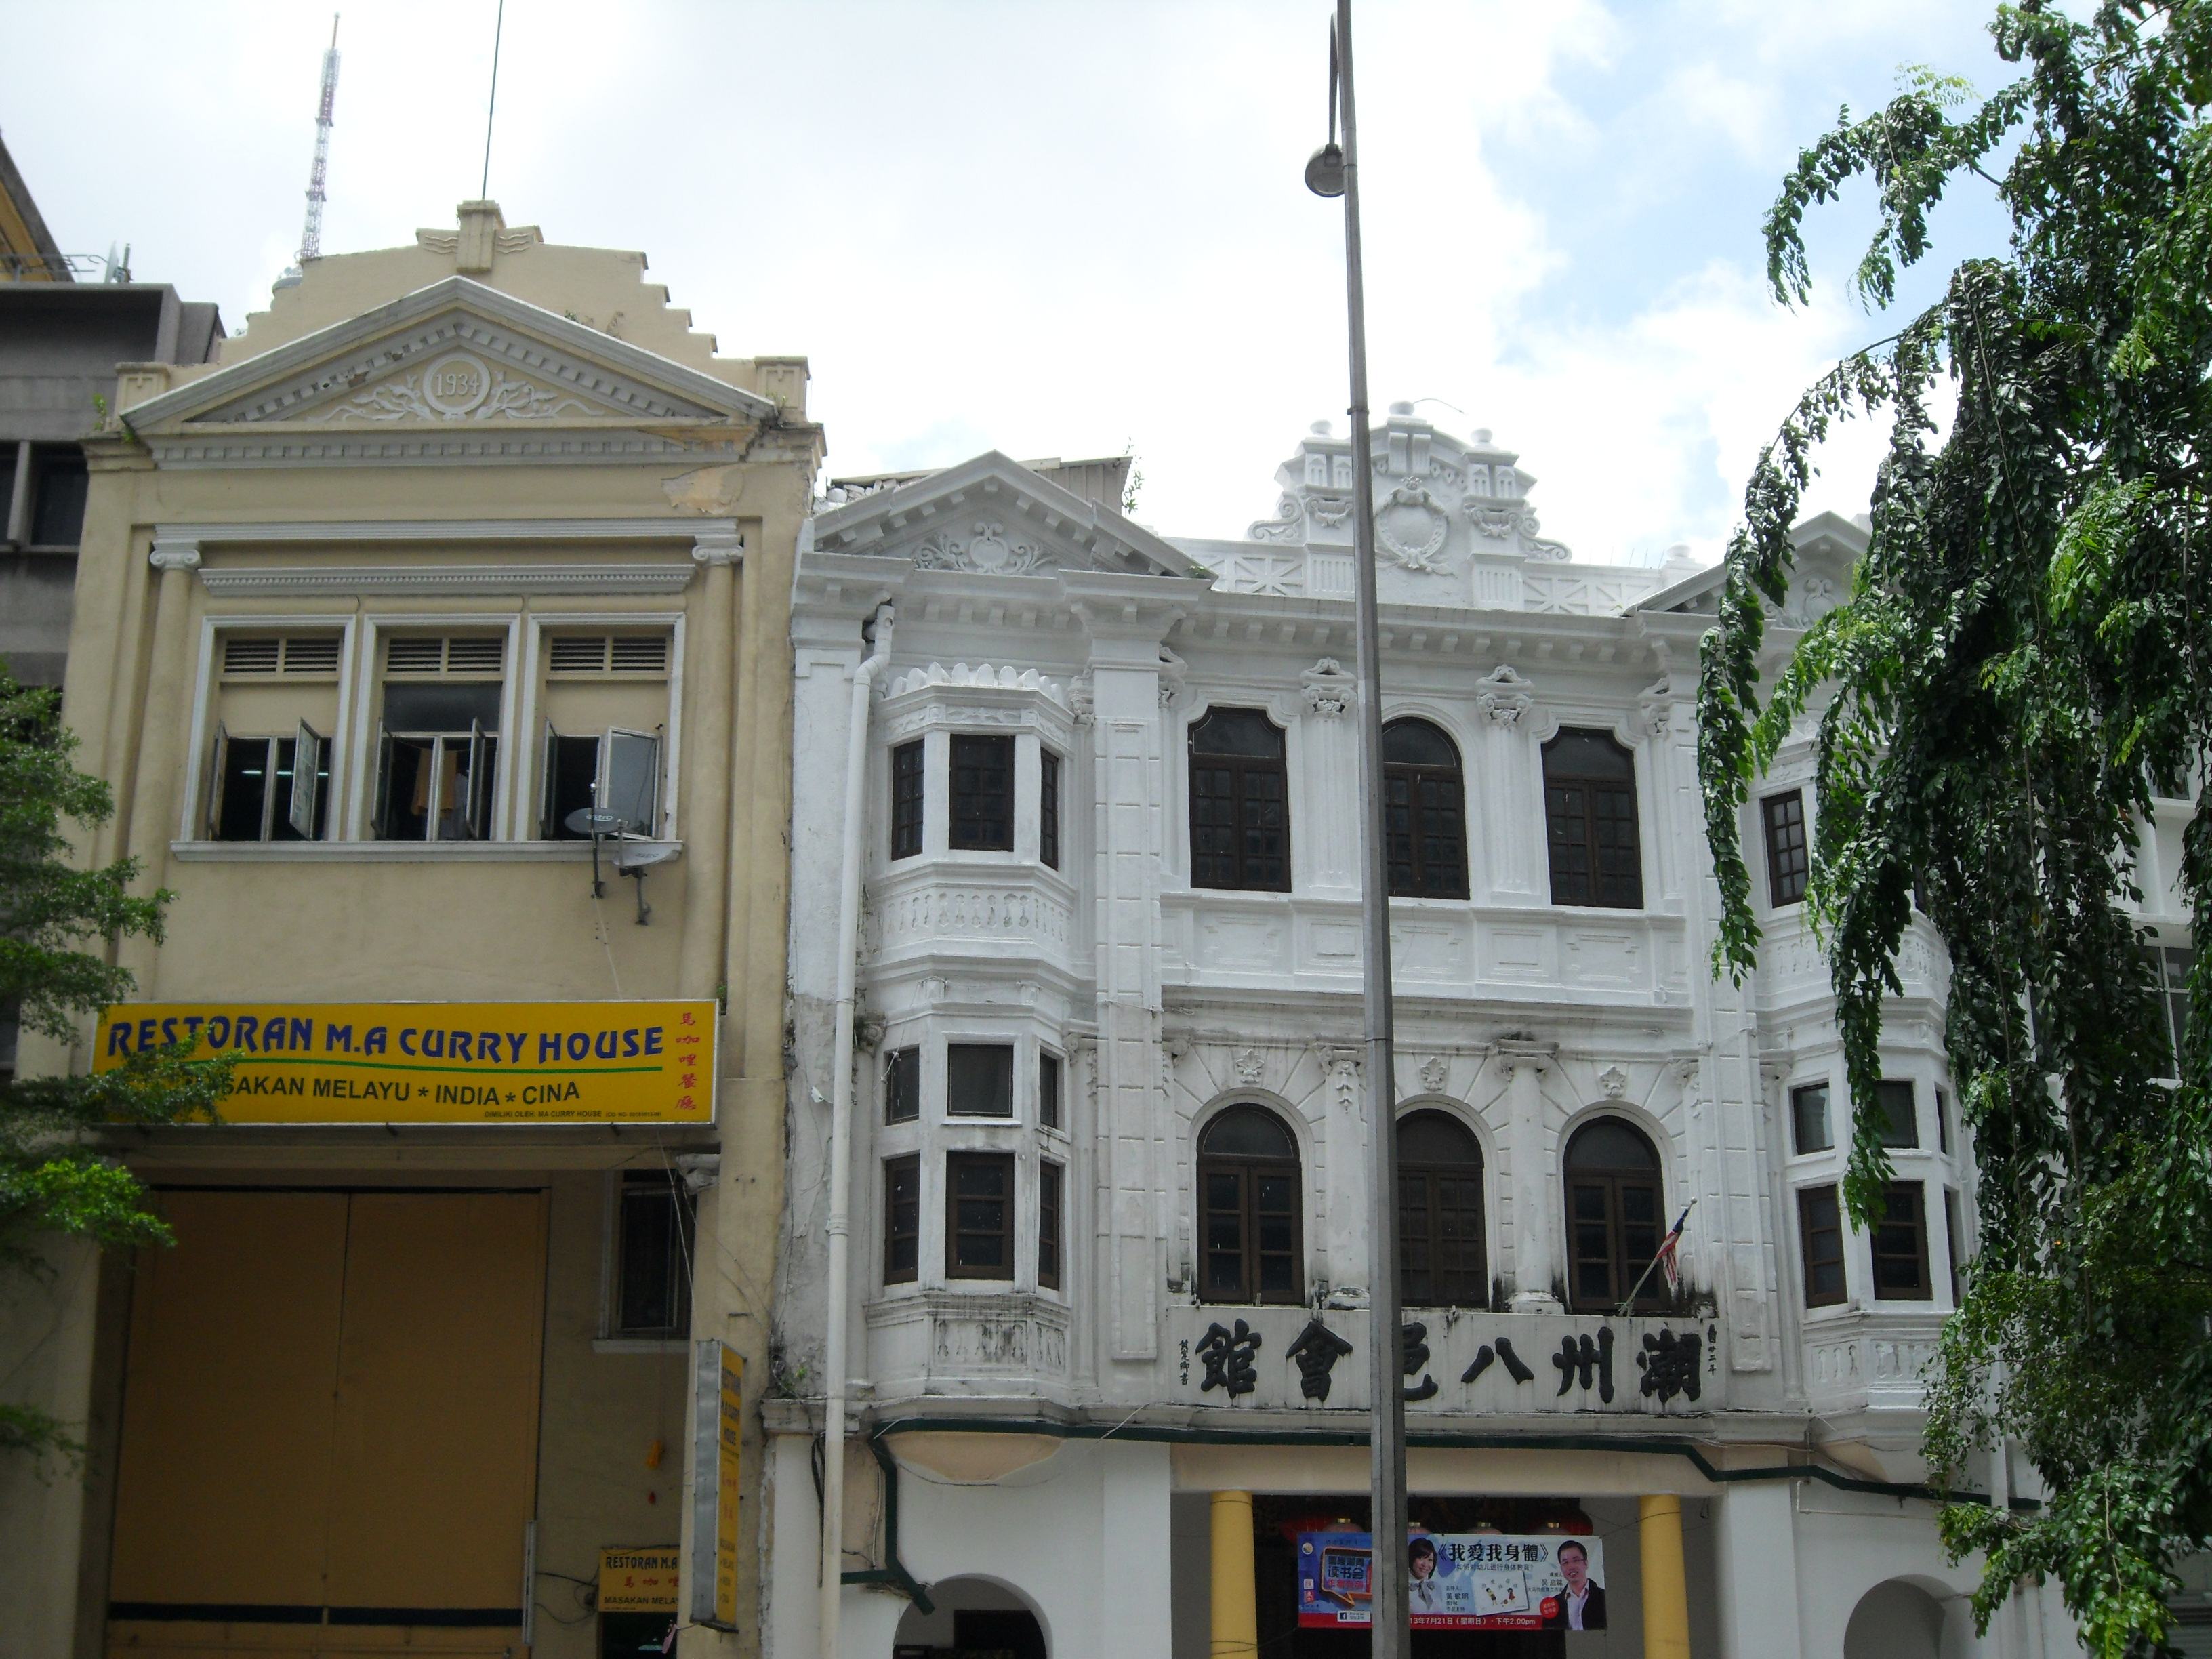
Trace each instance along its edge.
{"label": "tall tree with drooping green foliage before the white building's right end", "polygon": [[[2212,1533],[2212,4],[2000,7],[2020,77],[1975,102],[1913,75],[1798,157],[1767,270],[1809,285],[1803,215],[1856,179],[1880,223],[1871,307],[1929,250],[1953,184],[1991,188],[2011,254],[1827,374],[1761,456],[1703,646],[1699,768],[1725,920],[1754,962],[1743,805],[1818,719],[1807,909],[1851,1077],[1847,1201],[1878,1217],[1882,998],[1918,902],[1951,958],[1947,1048],[1980,1164],[1980,1256],[1944,1329],[1927,1453],[1940,1484],[2000,1436],[2039,1511],[1951,1504],[1986,1553],[1975,1617],[2057,1579],[2088,1648],[2163,1644],[2179,1555]],[[1955,416],[1931,398],[1949,376]],[[1765,615],[1829,425],[1885,414],[1871,546],[1849,599],[1761,684]],[[1765,692],[1765,697],[1763,697]],[[2130,922],[2154,796],[2197,799],[2181,889],[2199,945],[2177,1071]]]}

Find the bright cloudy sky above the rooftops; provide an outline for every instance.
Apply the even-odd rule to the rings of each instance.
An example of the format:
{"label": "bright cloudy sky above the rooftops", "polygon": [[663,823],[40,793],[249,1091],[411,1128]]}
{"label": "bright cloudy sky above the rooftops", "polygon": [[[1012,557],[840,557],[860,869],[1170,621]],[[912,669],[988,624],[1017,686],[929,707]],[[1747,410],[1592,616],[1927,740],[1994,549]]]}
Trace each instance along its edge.
{"label": "bright cloudy sky above the rooftops", "polygon": [[[449,226],[484,166],[495,0],[354,0],[323,248]],[[1305,192],[1327,0],[509,0],[491,195],[641,248],[728,354],[805,352],[834,473],[1119,453],[1139,518],[1241,535],[1345,405],[1343,219]],[[1891,332],[1763,288],[1801,144],[1900,66],[2006,80],[1980,0],[1360,0],[1371,392],[1491,427],[1548,535],[1714,557],[1796,392]],[[69,252],[237,332],[299,243],[330,9],[0,0],[0,133]],[[1982,199],[1938,254],[2002,246]],[[1911,290],[1933,292],[1936,276]],[[1876,436],[1814,507],[1865,507]]]}

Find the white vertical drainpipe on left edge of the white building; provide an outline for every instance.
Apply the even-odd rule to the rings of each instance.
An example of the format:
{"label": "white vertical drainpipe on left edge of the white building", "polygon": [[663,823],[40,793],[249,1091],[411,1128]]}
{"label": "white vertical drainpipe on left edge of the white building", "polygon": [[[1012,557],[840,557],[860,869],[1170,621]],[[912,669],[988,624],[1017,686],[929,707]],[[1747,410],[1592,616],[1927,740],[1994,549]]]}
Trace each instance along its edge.
{"label": "white vertical drainpipe on left edge of the white building", "polygon": [[821,1655],[838,1652],[845,1571],[845,1325],[852,1272],[852,995],[860,956],[860,852],[867,816],[867,703],[891,657],[891,606],[876,606],[876,648],[852,677],[845,737],[845,849],[836,898],[836,1057],[830,1073],[830,1332],[823,1356],[823,1610]]}

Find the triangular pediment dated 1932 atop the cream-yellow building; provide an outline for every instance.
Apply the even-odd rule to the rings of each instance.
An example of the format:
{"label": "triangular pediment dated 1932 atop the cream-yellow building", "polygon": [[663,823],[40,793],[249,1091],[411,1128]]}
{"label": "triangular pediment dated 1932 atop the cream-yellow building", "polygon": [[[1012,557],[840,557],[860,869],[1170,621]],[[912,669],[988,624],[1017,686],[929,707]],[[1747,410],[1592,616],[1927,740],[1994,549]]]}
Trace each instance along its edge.
{"label": "triangular pediment dated 1932 atop the cream-yellow building", "polygon": [[595,327],[449,276],[126,411],[135,431],[283,422],[754,422],[774,403]]}

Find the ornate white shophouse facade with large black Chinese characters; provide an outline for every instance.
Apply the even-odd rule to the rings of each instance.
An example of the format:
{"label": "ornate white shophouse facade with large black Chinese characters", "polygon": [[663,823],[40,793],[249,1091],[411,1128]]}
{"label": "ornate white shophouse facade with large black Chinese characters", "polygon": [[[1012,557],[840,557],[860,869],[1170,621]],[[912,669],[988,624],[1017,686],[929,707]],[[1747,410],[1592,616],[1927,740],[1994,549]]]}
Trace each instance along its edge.
{"label": "ornate white shophouse facade with large black Chinese characters", "polygon": [[[1110,469],[1099,487],[989,453],[832,491],[801,544],[776,1659],[816,1650],[834,918],[852,686],[885,604],[843,1652],[949,1646],[958,1610],[1000,1608],[1055,1659],[1197,1659],[1214,1495],[1252,1493],[1259,1635],[1294,1655],[1285,1526],[1365,1524],[1352,465],[1316,427],[1248,540],[1166,542],[1113,511]],[[1938,945],[1909,938],[1885,1031],[1902,1208],[1878,1259],[1827,1223],[1845,1086],[1790,902],[1805,741],[1745,821],[1761,969],[1736,991],[1705,967],[1712,577],[1571,562],[1513,453],[1405,405],[1371,465],[1387,748],[1427,814],[1391,925],[1416,1520],[1601,1537],[1610,1630],[1579,1652],[1644,1650],[1655,1498],[1679,1500],[1697,1655],[2070,1648],[2055,1601],[1978,1644],[1973,1564],[1944,1566],[1907,1495],[1916,1374],[1973,1217]],[[1798,544],[1776,648],[1865,540],[1825,515]],[[1681,1296],[1615,1316],[1692,1201]],[[1334,1369],[1287,1354],[1316,1316]],[[1225,1354],[1217,1325],[1259,1345]],[[1610,1385],[1557,1363],[1586,1338]],[[1991,1486],[2020,1498],[2022,1471]]]}

